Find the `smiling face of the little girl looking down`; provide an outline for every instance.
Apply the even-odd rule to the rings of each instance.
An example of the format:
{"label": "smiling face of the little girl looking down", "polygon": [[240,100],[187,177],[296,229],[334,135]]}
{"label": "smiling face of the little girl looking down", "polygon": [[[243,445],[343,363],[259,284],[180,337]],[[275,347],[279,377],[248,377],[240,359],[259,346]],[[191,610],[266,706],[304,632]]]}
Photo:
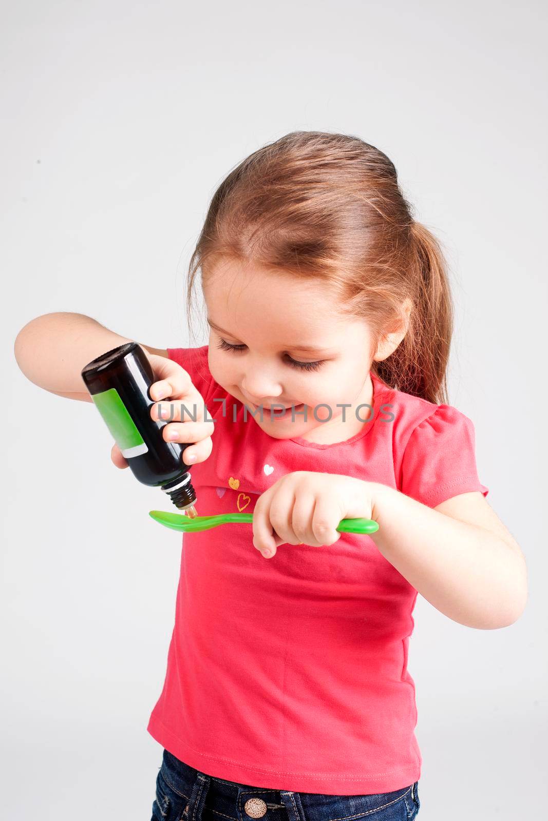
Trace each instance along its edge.
{"label": "smiling face of the little girl looking down", "polygon": [[[211,374],[256,411],[261,429],[329,443],[363,427],[371,410],[355,409],[371,405],[373,394],[372,339],[363,320],[338,314],[325,287],[251,264],[223,261],[204,281]],[[280,416],[277,405],[288,413]],[[305,408],[306,420],[299,413]]]}

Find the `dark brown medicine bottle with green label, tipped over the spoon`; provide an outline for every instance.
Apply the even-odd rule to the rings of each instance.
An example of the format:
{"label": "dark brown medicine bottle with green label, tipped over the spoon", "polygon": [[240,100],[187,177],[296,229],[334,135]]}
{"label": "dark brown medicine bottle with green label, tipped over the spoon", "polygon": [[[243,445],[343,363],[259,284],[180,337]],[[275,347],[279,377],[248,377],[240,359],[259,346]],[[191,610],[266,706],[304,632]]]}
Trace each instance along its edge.
{"label": "dark brown medicine bottle with green label, tipped over the spoon", "polygon": [[145,351],[126,342],[85,365],[81,376],[136,479],[161,488],[175,507],[196,516],[196,493],[182,457],[191,443],[166,442],[162,429],[168,421],[151,418],[149,391],[156,380]]}

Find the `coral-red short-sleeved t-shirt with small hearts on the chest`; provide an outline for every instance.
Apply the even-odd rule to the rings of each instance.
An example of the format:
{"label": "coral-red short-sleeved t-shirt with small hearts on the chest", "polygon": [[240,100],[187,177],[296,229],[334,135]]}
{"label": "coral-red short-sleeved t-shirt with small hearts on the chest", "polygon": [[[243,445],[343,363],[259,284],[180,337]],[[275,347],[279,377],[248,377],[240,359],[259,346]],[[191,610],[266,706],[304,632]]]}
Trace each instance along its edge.
{"label": "coral-red short-sleeved t-shirt with small hearts on the chest", "polygon": [[[168,355],[215,420],[213,452],[191,466],[200,515],[249,513],[293,470],[380,482],[428,507],[489,492],[477,475],[472,421],[452,406],[392,390],[371,372],[374,413],[355,436],[276,439],[249,409],[244,421],[242,402],[214,382],[208,346]],[[191,767],[253,787],[359,795],[418,781],[407,668],[417,590],[370,536],[281,544],[271,559],[252,539],[248,524],[183,536],[150,735]]]}

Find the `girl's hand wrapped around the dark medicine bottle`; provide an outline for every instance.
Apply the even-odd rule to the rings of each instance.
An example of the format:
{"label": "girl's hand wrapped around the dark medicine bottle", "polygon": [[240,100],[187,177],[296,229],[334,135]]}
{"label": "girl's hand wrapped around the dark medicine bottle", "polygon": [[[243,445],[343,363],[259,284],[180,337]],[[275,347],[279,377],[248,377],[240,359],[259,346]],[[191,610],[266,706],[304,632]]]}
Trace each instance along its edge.
{"label": "girl's hand wrapped around the dark medicine bottle", "polygon": [[[187,465],[205,461],[213,449],[211,434],[214,432],[214,422],[204,421],[204,400],[201,394],[192,384],[187,371],[177,365],[177,362],[155,354],[148,354],[148,358],[157,380],[150,385],[150,398],[154,399],[154,405],[150,406],[151,418],[170,420],[162,429],[165,442],[196,443],[185,448],[182,454]],[[192,416],[195,415],[196,406],[196,422],[188,413],[183,414],[185,420],[181,419],[182,405],[187,407]],[[171,433],[176,434],[175,438],[170,436]],[[195,461],[190,461],[191,454],[196,454]],[[117,467],[127,467],[127,460],[117,444],[113,445],[110,458]]]}

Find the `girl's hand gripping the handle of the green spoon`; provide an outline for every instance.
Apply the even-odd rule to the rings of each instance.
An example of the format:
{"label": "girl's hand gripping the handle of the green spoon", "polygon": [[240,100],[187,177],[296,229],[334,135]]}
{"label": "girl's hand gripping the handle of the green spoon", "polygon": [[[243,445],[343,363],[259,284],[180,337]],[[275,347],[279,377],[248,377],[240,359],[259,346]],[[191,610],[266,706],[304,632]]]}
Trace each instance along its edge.
{"label": "girl's hand gripping the handle of the green spoon", "polygon": [[334,544],[341,519],[373,518],[375,483],[297,470],[261,493],[253,510],[253,545],[272,557],[279,544]]}

